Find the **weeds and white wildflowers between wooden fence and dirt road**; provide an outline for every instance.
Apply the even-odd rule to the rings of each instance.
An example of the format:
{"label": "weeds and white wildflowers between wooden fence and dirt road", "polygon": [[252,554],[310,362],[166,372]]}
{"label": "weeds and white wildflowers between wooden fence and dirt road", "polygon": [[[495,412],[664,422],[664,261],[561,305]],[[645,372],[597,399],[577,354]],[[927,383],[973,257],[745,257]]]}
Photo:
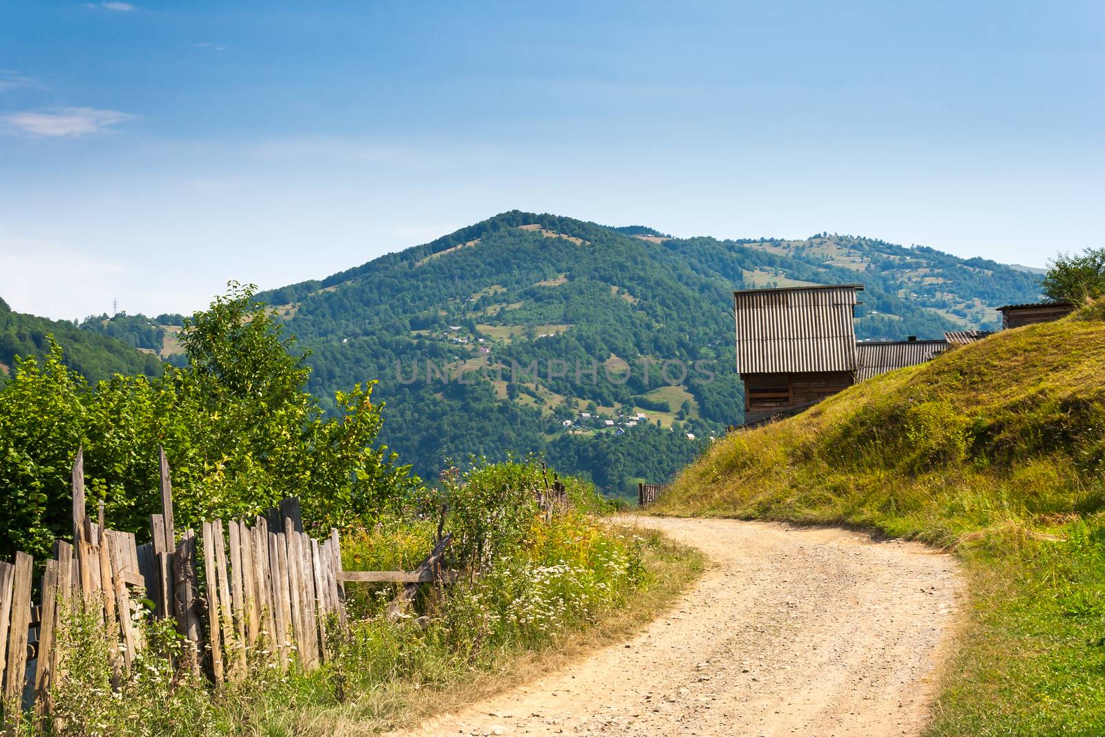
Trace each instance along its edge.
{"label": "weeds and white wildflowers between wooden fence and dirt road", "polygon": [[[351,623],[330,622],[332,660],[309,673],[276,667],[263,642],[249,676],[217,692],[180,680],[165,652],[180,640],[146,625],[135,675],[113,692],[110,661],[95,618],[66,629],[69,675],[54,694],[65,735],[376,734],[516,683],[573,651],[612,640],[646,621],[694,579],[701,564],[654,533],[603,520],[608,503],[568,480],[570,505],[546,517],[537,507],[541,467],[477,464],[450,474],[440,494],[406,513],[350,529],[347,570],[413,568],[432,546],[438,520],[418,504],[449,504],[454,535],[450,586],[429,587],[399,623],[385,615],[396,585],[349,583]],[[30,729],[28,729],[30,731]]]}

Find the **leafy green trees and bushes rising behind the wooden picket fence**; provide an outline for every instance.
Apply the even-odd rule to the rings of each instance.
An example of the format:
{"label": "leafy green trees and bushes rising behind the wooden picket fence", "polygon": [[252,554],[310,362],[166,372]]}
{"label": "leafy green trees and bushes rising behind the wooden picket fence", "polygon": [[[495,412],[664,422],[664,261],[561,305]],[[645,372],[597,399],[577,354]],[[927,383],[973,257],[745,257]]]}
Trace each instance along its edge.
{"label": "leafy green trees and bushes rising behind the wooden picket fence", "polygon": [[160,509],[157,449],[172,470],[178,527],[256,514],[298,495],[319,525],[370,519],[418,480],[376,442],[381,406],[372,387],[338,392],[334,417],[304,390],[309,369],[252,288],[232,285],[186,322],[190,365],[160,378],[115,376],[93,389],[61,348],[40,367],[17,366],[0,392],[0,515],[13,524],[0,557],[46,554],[71,530],[70,468],[85,450],[90,504],[107,523],[147,534]]}

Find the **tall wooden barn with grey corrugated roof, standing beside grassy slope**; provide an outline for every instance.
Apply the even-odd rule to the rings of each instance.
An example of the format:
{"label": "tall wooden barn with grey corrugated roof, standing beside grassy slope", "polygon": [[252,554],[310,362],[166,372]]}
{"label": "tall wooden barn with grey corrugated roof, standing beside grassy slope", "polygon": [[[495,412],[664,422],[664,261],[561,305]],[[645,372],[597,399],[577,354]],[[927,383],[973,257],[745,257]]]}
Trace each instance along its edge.
{"label": "tall wooden barn with grey corrugated roof, standing beside grassy slope", "polygon": [[733,293],[745,424],[793,414],[855,382],[862,284]]}

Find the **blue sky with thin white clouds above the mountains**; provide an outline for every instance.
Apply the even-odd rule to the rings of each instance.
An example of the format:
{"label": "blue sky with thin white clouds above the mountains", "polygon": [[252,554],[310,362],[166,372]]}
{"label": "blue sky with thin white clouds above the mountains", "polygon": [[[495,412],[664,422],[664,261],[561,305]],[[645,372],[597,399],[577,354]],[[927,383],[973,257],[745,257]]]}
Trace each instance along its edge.
{"label": "blue sky with thin white clouds above the mountains", "polygon": [[190,312],[509,209],[1105,245],[1099,2],[0,0],[0,296]]}

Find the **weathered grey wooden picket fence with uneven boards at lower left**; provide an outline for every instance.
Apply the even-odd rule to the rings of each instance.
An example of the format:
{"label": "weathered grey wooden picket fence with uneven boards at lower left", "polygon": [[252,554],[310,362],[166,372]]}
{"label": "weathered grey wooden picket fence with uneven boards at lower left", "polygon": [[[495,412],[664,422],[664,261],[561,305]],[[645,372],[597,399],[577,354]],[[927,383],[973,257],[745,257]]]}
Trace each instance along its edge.
{"label": "weathered grey wooden picket fence with uneven boards at lower left", "polygon": [[[20,706],[39,715],[50,710],[51,687],[65,673],[65,653],[55,646],[59,628],[78,602],[118,645],[110,649],[116,683],[144,647],[135,620],[143,599],[154,602],[154,618],[173,620],[183,635],[177,666],[185,675],[214,684],[241,678],[246,649],[262,638],[283,668],[295,662],[309,670],[328,660],[326,623],[345,622],[345,581],[352,579],[341,570],[337,530],[325,540],[306,535],[293,497],[252,523],[215,519],[202,523],[199,535],[187,529],[178,538],[164,451],[160,466],[161,514],[150,516],[150,543],[136,546],[134,534],[106,529],[102,502],[97,519],[87,514],[83,451],[77,451],[73,543],[55,543],[38,603],[31,556],[17,552],[13,564],[0,562],[0,677],[9,728]],[[440,552],[431,558],[423,566],[440,570]],[[414,576],[421,581],[427,570],[400,571],[406,579],[387,578],[393,571],[377,572],[385,578],[367,572],[356,580]]]}

